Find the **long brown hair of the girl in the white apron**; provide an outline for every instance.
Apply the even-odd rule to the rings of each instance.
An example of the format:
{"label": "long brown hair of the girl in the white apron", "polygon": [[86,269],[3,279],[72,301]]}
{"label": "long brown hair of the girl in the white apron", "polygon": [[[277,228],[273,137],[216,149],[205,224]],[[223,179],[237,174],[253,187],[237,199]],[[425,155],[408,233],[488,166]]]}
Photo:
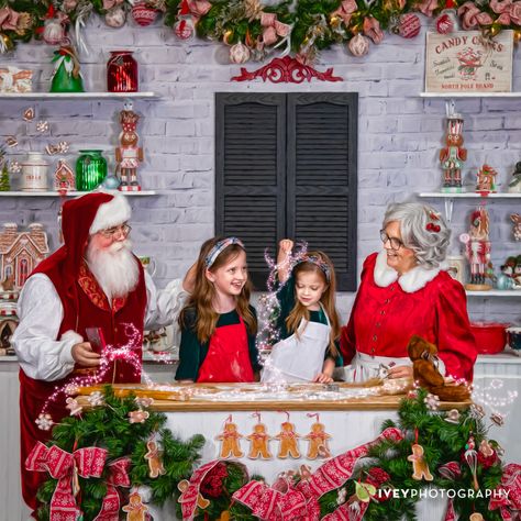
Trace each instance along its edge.
{"label": "long brown hair of the girl in the white apron", "polygon": [[[299,274],[301,273],[314,273],[325,284],[325,291],[322,293],[320,303],[324,307],[324,311],[328,314],[331,324],[331,334],[329,343],[329,354],[332,356],[339,355],[339,350],[336,348],[334,341],[340,336],[340,317],[336,311],[335,304],[335,291],[336,291],[336,277],[334,275],[334,266],[330,257],[323,252],[308,252],[310,257],[318,257],[322,263],[328,265],[330,271],[330,280],[325,276],[324,270],[312,262],[302,262],[297,264],[292,270],[292,276],[295,285],[297,286]],[[286,328],[290,333],[295,333],[297,337],[299,336],[299,325],[300,321],[304,319],[309,321],[309,310],[306,306],[302,306],[295,296],[295,306],[288,318],[286,319]]]}

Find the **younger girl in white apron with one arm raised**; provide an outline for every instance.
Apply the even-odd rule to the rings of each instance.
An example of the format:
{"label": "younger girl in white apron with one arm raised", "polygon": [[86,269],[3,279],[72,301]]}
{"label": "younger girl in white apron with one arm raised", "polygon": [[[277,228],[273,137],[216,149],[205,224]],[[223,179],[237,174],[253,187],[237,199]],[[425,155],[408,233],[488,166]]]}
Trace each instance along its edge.
{"label": "younger girl in white apron with one arm raised", "polygon": [[308,252],[291,260],[292,247],[292,241],[280,241],[277,265],[282,286],[277,298],[281,340],[271,348],[262,381],[330,383],[335,365],[342,365],[335,344],[340,319],[333,265],[322,252]]}

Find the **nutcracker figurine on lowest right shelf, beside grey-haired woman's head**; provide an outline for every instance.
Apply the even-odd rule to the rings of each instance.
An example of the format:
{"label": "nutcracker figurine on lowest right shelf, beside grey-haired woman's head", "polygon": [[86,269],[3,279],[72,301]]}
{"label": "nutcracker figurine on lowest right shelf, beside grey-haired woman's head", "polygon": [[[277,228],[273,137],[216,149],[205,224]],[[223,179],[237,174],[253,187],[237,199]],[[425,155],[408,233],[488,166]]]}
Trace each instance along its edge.
{"label": "nutcracker figurine on lowest right shelf, beside grey-haired woman's head", "polygon": [[465,255],[470,265],[470,282],[465,288],[470,291],[488,291],[486,284],[487,267],[490,263],[490,241],[488,240],[488,212],[484,207],[470,217],[470,231],[463,233],[459,240],[465,244]]}

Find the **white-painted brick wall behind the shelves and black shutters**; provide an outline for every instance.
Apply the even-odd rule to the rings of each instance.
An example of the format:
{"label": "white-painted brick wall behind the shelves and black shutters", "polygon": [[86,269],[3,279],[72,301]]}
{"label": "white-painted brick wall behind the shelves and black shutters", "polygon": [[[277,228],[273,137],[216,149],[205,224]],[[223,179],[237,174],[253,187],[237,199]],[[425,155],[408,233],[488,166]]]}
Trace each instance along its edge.
{"label": "white-painted brick wall behind the shelves and black shutters", "polygon": [[[425,20],[423,20],[425,23]],[[425,27],[424,27],[425,30]],[[437,153],[444,135],[445,104],[442,99],[421,99],[423,90],[424,34],[413,41],[386,35],[380,46],[358,59],[341,47],[324,52],[317,66],[334,67],[343,82],[311,81],[301,85],[231,82],[239,67],[226,63],[228,48],[195,41],[182,43],[167,29],[157,26],[110,30],[101,21],[87,29],[90,54],[81,56],[86,88],[104,90],[109,51],[131,48],[140,62],[141,90],[154,90],[160,100],[136,101],[142,114],[138,126],[145,162],[140,168],[144,188],[158,189],[156,198],[133,199],[133,241],[141,254],[154,252],[156,280],[164,286],[179,277],[196,257],[200,243],[213,234],[213,97],[218,91],[357,91],[359,93],[358,137],[358,266],[379,247],[378,230],[389,202],[412,199],[419,191],[440,187]],[[53,49],[42,44],[21,45],[14,55],[1,56],[2,64],[42,69],[41,90],[48,89]],[[514,90],[521,90],[519,51],[514,52]],[[248,64],[247,68],[257,65]],[[74,164],[80,148],[106,151],[114,167],[118,143],[118,111],[122,106],[106,101],[0,101],[0,136],[18,133],[25,126],[24,108],[33,106],[38,119],[51,123],[47,138],[23,140],[25,149],[42,151],[47,141],[71,143]],[[465,146],[468,181],[478,166],[489,162],[499,171],[499,182],[510,179],[516,162],[521,160],[521,102],[519,99],[467,99],[457,101],[465,115]],[[500,188],[501,189],[501,188]],[[436,203],[442,209],[441,203]],[[56,243],[55,199],[1,198],[0,222],[16,220],[21,225],[41,221]],[[454,236],[466,230],[473,204],[457,201],[454,207]],[[517,208],[518,207],[518,208]],[[492,201],[492,259],[499,265],[508,255],[521,253],[511,239],[508,214],[520,211],[519,203]],[[455,243],[453,253],[457,252]],[[344,319],[353,301],[341,295]],[[521,322],[519,299],[473,298],[469,309],[475,319]]]}

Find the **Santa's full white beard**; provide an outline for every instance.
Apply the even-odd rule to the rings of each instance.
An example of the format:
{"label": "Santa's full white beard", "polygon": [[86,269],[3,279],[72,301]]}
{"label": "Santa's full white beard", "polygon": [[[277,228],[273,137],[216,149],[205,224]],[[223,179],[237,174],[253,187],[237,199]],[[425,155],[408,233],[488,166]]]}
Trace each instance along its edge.
{"label": "Santa's full white beard", "polygon": [[96,247],[92,242],[87,246],[89,269],[109,300],[125,297],[137,286],[140,268],[131,247],[129,240],[115,242],[103,250]]}

